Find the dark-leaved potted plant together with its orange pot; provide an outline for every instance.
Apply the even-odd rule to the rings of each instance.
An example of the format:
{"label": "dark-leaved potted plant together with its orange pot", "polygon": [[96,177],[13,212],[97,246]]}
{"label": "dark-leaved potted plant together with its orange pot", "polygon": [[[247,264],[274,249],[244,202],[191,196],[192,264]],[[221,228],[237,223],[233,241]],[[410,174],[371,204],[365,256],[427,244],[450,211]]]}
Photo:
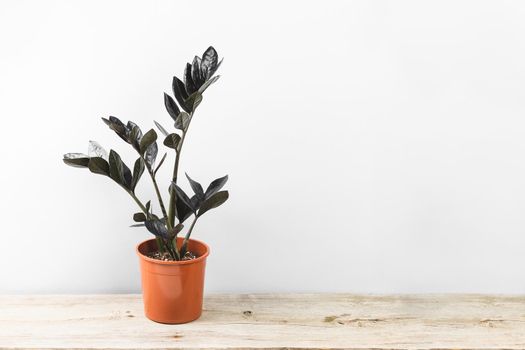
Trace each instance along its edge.
{"label": "dark-leaved potted plant together with its orange pot", "polygon": [[[138,158],[133,170],[117,152],[110,150],[108,154],[94,141],[89,142],[87,154],[64,155],[67,165],[87,168],[94,174],[113,180],[140,208],[133,215],[137,223],[132,226],[145,227],[155,236],[140,243],[136,249],[140,261],[144,309],[146,316],[153,321],[185,323],[197,319],[202,312],[204,271],[209,248],[203,242],[191,239],[191,234],[200,217],[228,199],[228,191],[221,190],[228,176],[212,181],[204,190],[201,184],[186,174],[193,191],[193,195],[188,195],[179,187],[179,163],[195,110],[202,101],[204,91],[219,79],[215,72],[221,62],[215,49],[209,47],[202,57],[195,56],[192,63],[186,64],[183,80],[173,77],[175,99],[164,94],[164,104],[175,127],[173,132],[168,132],[155,122],[164,137],[162,144],[175,156],[167,205],[156,175],[168,152],[158,160],[158,135],[154,129],[143,134],[140,127],[131,121],[124,124],[113,116],[102,118],[111,130],[137,151]],[[151,201],[145,202],[135,193],[144,172],[153,182],[160,212],[154,212]]]}

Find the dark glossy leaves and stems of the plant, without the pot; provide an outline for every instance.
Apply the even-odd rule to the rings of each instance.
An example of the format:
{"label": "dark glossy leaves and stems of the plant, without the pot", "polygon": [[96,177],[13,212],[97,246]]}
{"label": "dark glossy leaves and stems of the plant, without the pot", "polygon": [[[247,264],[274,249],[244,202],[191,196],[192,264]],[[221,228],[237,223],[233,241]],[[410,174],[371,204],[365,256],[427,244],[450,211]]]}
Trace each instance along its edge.
{"label": "dark glossy leaves and stems of the plant, without the pot", "polygon": [[[218,178],[211,182],[206,190],[197,181],[186,177],[193,190],[193,195],[186,194],[178,185],[179,162],[182,146],[195,110],[202,101],[206,89],[219,79],[214,75],[222,60],[218,60],[217,52],[209,47],[201,57],[195,56],[193,63],[187,63],[184,70],[184,81],[173,77],[173,94],[175,100],[164,93],[164,104],[168,114],[173,119],[175,130],[168,132],[161,124],[155,121],[155,125],[162,133],[164,139],[162,144],[170,149],[175,155],[173,167],[173,178],[169,186],[169,202],[165,205],[162,198],[156,175],[159,168],[164,164],[168,153],[157,161],[158,135],[154,129],[143,134],[140,127],[128,121],[124,124],[116,117],[102,118],[122,140],[129,143],[138,153],[133,170],[121,159],[119,154],[110,150],[108,153],[96,142],[89,142],[88,154],[67,153],[64,162],[68,165],[87,168],[94,174],[107,176],[117,183],[137,203],[140,212],[133,215],[133,220],[139,222],[133,226],[145,226],[149,232],[156,236],[158,250],[163,253],[164,259],[183,260],[191,257],[187,251],[187,242],[191,236],[197,220],[216,208],[228,199],[228,191],[221,191],[228,180],[228,176]],[[154,213],[150,201],[144,202],[135,194],[135,188],[144,171],[153,182],[156,197],[160,207],[160,213]],[[176,239],[184,231],[184,223],[193,216],[189,228],[184,235],[184,241],[180,248],[177,247]]]}

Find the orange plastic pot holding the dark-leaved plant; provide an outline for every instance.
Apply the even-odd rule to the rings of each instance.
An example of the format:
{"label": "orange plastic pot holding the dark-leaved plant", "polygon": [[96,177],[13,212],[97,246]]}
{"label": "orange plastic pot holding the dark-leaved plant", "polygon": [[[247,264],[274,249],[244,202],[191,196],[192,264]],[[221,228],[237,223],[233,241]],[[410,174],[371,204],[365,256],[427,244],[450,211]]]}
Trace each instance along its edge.
{"label": "orange plastic pot holding the dark-leaved plant", "polygon": [[[182,238],[178,238],[177,245],[181,243]],[[161,261],[147,257],[148,253],[156,250],[155,239],[137,246],[146,317],[169,324],[196,320],[202,313],[204,271],[209,247],[190,239],[188,250],[197,258],[187,261]]]}

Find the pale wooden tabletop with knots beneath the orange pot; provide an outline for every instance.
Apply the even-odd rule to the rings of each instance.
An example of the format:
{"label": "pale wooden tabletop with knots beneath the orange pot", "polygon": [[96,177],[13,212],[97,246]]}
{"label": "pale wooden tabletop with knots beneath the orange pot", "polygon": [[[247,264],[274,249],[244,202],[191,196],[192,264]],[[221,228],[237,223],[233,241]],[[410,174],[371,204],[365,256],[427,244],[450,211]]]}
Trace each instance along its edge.
{"label": "pale wooden tabletop with knots beneath the orange pot", "polygon": [[193,323],[138,295],[0,296],[1,349],[525,349],[525,297],[209,295]]}

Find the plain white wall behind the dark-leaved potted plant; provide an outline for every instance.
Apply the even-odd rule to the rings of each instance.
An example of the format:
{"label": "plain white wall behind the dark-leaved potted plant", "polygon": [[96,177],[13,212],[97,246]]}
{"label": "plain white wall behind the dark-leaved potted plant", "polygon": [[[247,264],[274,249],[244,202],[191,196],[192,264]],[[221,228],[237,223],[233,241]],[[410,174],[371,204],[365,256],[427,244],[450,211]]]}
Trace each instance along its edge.
{"label": "plain white wall behind the dark-leaved potted plant", "polygon": [[208,292],[525,293],[524,18],[519,1],[2,1],[0,293],[139,290],[134,203],[61,157],[94,139],[134,161],[100,117],[168,126],[162,93],[210,44],[222,79],[182,159],[230,175],[194,234]]}

